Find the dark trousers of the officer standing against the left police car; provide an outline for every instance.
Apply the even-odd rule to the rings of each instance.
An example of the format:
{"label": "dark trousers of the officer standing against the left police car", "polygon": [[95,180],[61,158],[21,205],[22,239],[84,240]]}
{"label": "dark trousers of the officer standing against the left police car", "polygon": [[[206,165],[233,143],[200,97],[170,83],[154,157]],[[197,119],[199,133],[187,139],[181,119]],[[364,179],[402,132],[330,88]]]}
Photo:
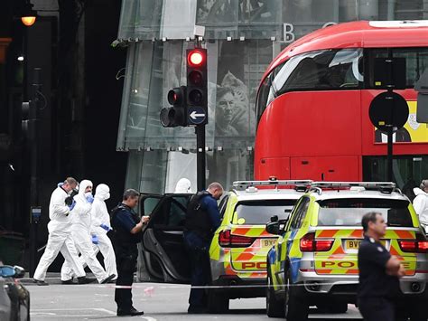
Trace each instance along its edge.
{"label": "dark trousers of the officer standing against the left police car", "polygon": [[209,241],[200,238],[193,231],[184,232],[184,244],[191,260],[191,307],[205,307],[207,305],[207,291],[204,287],[210,282],[209,268]]}

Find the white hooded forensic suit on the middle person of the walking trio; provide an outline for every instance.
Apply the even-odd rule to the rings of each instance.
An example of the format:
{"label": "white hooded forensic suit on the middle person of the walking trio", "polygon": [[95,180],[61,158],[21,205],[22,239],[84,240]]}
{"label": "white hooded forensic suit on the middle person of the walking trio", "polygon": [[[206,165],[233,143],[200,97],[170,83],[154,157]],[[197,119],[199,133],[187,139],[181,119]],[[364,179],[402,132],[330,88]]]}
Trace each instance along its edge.
{"label": "white hooded forensic suit on the middle person of the walking trio", "polygon": [[[103,283],[108,276],[96,258],[89,233],[92,203],[88,202],[87,195],[85,195],[85,190],[88,186],[92,186],[92,182],[88,180],[81,181],[79,184],[79,194],[74,196],[76,206],[71,211],[71,237],[81,255],[80,269],[83,269],[82,263],[85,262],[92,273],[94,273],[98,283]],[[64,262],[60,270],[60,279],[62,281],[72,279],[75,276],[73,271],[74,269],[70,267],[68,262]]]}

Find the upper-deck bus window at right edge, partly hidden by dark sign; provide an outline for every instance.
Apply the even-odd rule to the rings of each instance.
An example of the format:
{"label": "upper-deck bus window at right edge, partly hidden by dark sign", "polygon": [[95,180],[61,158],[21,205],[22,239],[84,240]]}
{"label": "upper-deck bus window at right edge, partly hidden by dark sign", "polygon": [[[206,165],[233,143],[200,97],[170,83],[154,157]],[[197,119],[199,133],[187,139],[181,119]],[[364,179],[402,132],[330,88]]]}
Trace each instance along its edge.
{"label": "upper-deck bus window at right edge, partly hidden by dark sign", "polygon": [[[386,48],[368,49],[368,70],[370,76],[368,79],[368,87],[375,88],[373,66],[375,58],[385,58],[388,56]],[[392,56],[397,58],[405,58],[405,84],[406,88],[414,88],[414,83],[419,80],[425,68],[428,67],[428,48],[394,48]]]}

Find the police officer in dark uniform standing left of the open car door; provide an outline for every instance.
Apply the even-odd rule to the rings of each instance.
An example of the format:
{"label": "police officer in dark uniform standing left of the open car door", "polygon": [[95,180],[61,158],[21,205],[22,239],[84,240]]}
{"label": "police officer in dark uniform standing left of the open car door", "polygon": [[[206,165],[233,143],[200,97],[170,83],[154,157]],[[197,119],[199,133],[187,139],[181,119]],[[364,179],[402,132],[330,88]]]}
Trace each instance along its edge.
{"label": "police officer in dark uniform standing left of the open car door", "polygon": [[[143,311],[138,311],[132,303],[132,283],[136,268],[138,250],[136,244],[142,240],[144,224],[149,220],[143,216],[141,220],[133,211],[138,203],[140,194],[133,190],[126,190],[123,201],[111,212],[111,224],[113,227],[113,248],[116,254],[117,280],[115,301],[117,304],[117,316],[141,316]],[[124,287],[124,288],[121,288]]]}

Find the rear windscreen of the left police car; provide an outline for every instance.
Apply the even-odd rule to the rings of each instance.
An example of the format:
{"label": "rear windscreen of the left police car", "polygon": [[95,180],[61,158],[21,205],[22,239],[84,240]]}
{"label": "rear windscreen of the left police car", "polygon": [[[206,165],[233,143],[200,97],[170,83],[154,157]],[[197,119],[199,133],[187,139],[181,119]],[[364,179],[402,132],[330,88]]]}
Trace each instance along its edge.
{"label": "rear windscreen of the left police car", "polygon": [[[279,220],[287,219],[292,212],[295,200],[263,200],[237,203],[234,219],[244,219],[243,224],[265,224],[278,215]],[[241,220],[242,221],[242,220]]]}

